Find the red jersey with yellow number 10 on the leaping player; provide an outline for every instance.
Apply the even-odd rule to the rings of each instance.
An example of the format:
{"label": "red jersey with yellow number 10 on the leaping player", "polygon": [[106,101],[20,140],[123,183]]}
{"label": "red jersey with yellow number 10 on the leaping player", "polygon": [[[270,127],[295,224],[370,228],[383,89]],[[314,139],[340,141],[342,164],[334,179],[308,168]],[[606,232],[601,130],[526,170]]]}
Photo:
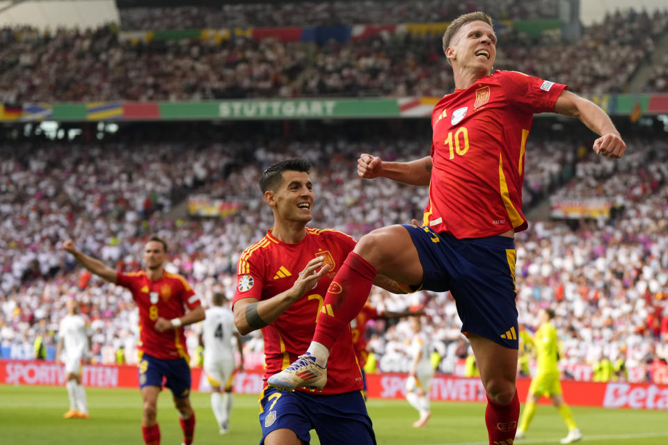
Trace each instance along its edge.
{"label": "red jersey with yellow number 10 on the leaping player", "polygon": [[534,113],[554,111],[565,85],[496,71],[440,99],[431,115],[434,168],[424,225],[456,238],[527,228],[524,150]]}

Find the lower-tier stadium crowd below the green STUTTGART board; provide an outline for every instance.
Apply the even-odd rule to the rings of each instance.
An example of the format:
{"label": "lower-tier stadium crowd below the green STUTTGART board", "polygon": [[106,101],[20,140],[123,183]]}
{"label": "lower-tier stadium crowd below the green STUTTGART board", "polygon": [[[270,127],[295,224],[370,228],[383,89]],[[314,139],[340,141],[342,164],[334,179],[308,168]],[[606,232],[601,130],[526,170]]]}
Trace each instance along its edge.
{"label": "lower-tier stadium crowd below the green STUTTGART board", "polygon": [[[189,133],[185,124],[175,127],[163,139],[120,131],[111,141],[27,138],[0,147],[1,346],[27,357],[40,334],[52,345],[65,296],[73,295],[92,321],[95,359],[115,362],[123,348],[127,362],[134,362],[137,313],[129,293],[75,268],[60,243],[73,237],[107,264],[136,270],[145,239],[157,233],[170,243],[170,270],[186,275],[203,300],[215,291],[231,296],[239,255],[271,224],[257,178],[280,159],[303,156],[315,164],[312,224],[318,227],[359,238],[422,214],[425,190],[360,181],[355,165],[360,152],[385,160],[423,156],[424,141],[387,135],[225,138],[221,129],[193,127]],[[171,138],[180,132],[189,142]],[[589,364],[602,355],[624,354],[628,366],[646,364],[654,355],[668,358],[668,147],[659,139],[628,138],[633,150],[622,166],[578,150],[587,138],[568,145],[552,139],[541,132],[530,138],[525,170],[533,173],[527,174],[527,187],[544,194],[573,177],[564,188],[567,196],[614,194],[622,210],[617,218],[575,229],[539,221],[516,236],[520,322],[532,325],[539,307],[554,307],[566,364]],[[225,142],[214,142],[219,140]],[[629,187],[633,178],[639,182]],[[225,220],[186,218],[177,204],[189,194],[240,206]],[[449,293],[395,296],[376,289],[370,302],[390,311],[426,305],[426,329],[443,356],[442,371],[452,372],[462,350],[466,354]],[[369,346],[381,357],[383,371],[406,371],[407,329],[406,323],[385,321],[369,328]],[[196,330],[189,332],[194,349]],[[245,347],[262,350],[261,342],[253,336]]]}

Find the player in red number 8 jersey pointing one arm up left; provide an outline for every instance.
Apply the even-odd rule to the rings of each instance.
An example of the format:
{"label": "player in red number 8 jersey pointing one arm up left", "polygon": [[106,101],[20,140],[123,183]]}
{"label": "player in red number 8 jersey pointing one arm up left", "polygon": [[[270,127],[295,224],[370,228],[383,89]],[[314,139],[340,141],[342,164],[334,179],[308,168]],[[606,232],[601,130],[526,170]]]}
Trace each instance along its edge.
{"label": "player in red number 8 jersey pointing one arm up left", "polygon": [[[135,273],[109,268],[99,259],[77,250],[72,240],[65,241],[63,249],[91,273],[129,289],[139,308],[139,386],[143,399],[144,442],[160,444],[157,401],[163,379],[166,379],[166,387],[172,391],[179,412],[183,442],[190,445],[195,431],[195,413],[190,404],[191,375],[183,326],[203,320],[205,312],[186,280],[164,270],[167,243],[152,236],[144,246],[145,269]],[[184,307],[189,312],[185,312]]]}

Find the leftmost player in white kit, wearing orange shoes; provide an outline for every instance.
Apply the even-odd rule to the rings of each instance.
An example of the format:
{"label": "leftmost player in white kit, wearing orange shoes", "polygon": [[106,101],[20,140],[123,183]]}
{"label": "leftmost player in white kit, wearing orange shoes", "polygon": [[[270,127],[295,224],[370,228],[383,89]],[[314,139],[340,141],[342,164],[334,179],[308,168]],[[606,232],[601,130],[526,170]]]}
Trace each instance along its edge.
{"label": "leftmost player in white kit, wearing orange shoes", "polygon": [[67,316],[61,320],[56,347],[56,364],[65,363],[65,387],[70,396],[70,410],[63,417],[88,419],[86,391],[81,385],[81,362],[84,360],[88,362],[90,358],[90,327],[86,318],[79,315],[77,300],[67,298],[65,307]]}

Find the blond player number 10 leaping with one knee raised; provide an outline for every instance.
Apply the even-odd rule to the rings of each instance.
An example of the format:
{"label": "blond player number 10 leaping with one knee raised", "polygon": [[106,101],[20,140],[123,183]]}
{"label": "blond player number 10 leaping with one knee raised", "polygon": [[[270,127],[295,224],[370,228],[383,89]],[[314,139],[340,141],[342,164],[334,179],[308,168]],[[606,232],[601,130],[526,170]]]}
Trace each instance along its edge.
{"label": "blond player number 10 leaping with one knee raised", "polygon": [[[489,443],[514,439],[518,327],[514,232],[522,213],[524,151],[534,113],[579,118],[600,138],[597,154],[619,158],[626,144],[607,114],[565,85],[493,72],[496,35],[480,12],[454,19],[443,35],[455,90],[431,116],[429,156],[406,163],[362,154],[358,175],[429,186],[422,227],[392,225],[363,236],[334,277],[303,366],[269,378],[285,389],[321,385],[333,342],[363,307],[376,274],[412,289],[450,290],[475,354],[488,404]],[[416,222],[417,223],[417,222]]]}

